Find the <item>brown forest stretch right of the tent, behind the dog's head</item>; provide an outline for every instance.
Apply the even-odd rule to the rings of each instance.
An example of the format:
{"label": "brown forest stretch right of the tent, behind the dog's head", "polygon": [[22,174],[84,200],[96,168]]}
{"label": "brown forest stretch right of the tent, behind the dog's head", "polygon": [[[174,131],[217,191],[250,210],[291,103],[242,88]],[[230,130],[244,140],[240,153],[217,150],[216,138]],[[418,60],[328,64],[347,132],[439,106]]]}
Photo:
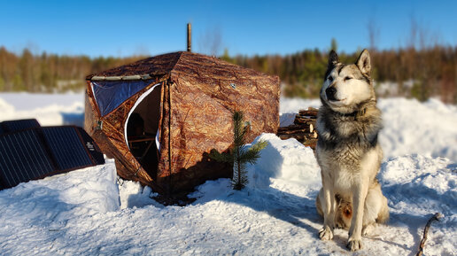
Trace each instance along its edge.
{"label": "brown forest stretch right of the tent, behind the dog's head", "polygon": [[[332,43],[333,44],[333,43]],[[343,63],[354,63],[361,50],[338,52]],[[329,51],[303,50],[280,56],[221,58],[266,74],[277,74],[283,82],[283,96],[319,97]],[[445,103],[457,103],[457,47],[434,46],[417,50],[369,50],[372,78],[381,97],[415,97],[421,101],[440,97]],[[391,87],[381,90],[383,83]]]}

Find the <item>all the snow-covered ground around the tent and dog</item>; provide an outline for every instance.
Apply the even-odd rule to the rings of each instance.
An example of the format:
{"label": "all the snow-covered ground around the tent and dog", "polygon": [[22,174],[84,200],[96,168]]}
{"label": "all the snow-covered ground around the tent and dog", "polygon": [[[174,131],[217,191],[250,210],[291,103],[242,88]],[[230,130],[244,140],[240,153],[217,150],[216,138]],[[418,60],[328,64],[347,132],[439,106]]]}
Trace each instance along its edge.
{"label": "all the snow-covered ground around the tent and dog", "polygon": [[[319,105],[283,98],[281,122]],[[378,106],[385,154],[378,178],[391,220],[363,238],[360,252],[346,251],[345,230],[333,241],[317,237],[321,178],[313,151],[265,134],[259,138],[267,148],[248,167],[246,189],[231,190],[228,179],[206,182],[190,206],[159,205],[151,189],[117,180],[111,159],[0,191],[0,254],[414,255],[423,226],[440,212],[445,218],[432,224],[424,254],[457,255],[457,107],[405,98]],[[0,94],[0,121],[31,117],[42,125],[81,124],[82,95]]]}

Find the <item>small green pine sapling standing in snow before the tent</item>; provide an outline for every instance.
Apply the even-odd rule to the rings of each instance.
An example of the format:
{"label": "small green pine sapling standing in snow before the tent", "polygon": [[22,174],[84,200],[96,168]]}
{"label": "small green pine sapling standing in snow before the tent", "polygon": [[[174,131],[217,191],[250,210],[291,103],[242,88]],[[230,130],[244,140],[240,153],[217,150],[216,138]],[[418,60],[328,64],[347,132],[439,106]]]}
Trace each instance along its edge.
{"label": "small green pine sapling standing in snow before the tent", "polygon": [[253,144],[249,150],[244,147],[249,124],[244,124],[243,112],[233,113],[233,141],[234,147],[229,153],[220,153],[216,150],[210,152],[210,157],[216,161],[233,164],[232,188],[242,190],[249,182],[246,176],[246,164],[255,164],[260,157],[260,151],[267,146],[267,142],[260,140]]}

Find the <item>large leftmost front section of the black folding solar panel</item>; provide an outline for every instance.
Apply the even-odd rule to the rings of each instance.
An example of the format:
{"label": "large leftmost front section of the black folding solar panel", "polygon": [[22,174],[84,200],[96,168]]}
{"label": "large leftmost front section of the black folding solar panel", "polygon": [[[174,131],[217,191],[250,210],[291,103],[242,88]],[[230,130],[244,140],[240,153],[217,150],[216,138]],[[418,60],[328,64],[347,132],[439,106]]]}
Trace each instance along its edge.
{"label": "large leftmost front section of the black folding solar panel", "polygon": [[0,136],[2,189],[42,177],[53,170],[35,129]]}

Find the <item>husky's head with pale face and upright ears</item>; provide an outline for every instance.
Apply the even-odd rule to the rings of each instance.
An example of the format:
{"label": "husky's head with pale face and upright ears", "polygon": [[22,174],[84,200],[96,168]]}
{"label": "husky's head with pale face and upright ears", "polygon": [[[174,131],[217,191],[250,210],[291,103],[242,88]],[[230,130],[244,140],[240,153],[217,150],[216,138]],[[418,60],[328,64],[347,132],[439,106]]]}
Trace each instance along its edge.
{"label": "husky's head with pale face and upright ears", "polygon": [[337,52],[329,53],[329,66],[321,89],[321,101],[333,111],[351,113],[371,100],[376,100],[371,83],[368,50],[363,50],[354,64],[338,61]]}

